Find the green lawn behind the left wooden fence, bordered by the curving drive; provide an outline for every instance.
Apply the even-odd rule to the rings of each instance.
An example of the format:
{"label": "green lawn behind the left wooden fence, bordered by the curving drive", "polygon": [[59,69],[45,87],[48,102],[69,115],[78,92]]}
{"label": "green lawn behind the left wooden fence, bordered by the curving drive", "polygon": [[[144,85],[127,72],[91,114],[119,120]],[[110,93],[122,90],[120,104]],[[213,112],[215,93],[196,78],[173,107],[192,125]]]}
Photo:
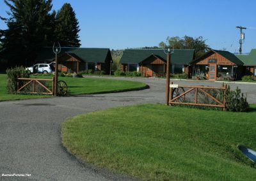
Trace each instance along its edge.
{"label": "green lawn behind the left wooden fence, bordered by the curving drive", "polygon": [[[31,76],[35,77],[35,76]],[[37,78],[49,78],[52,76],[37,76]],[[78,94],[96,94],[100,92],[115,92],[128,91],[130,89],[140,89],[145,87],[145,83],[132,82],[125,80],[106,80],[100,78],[72,78],[59,77],[59,80],[64,80],[68,85],[68,95]],[[29,98],[44,98],[49,96],[35,96],[35,95],[20,95],[7,94],[6,92],[6,75],[0,74],[0,101],[12,99],[29,99]]]}

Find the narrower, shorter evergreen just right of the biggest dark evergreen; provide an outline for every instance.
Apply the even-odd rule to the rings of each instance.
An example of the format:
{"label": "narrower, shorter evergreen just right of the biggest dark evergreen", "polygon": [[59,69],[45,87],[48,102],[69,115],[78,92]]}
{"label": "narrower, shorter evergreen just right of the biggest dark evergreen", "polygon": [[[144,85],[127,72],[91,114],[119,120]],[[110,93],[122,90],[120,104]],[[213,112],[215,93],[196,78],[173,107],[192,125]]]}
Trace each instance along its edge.
{"label": "narrower, shorter evergreen just right of the biggest dark evergreen", "polygon": [[63,4],[56,15],[55,34],[61,47],[80,47],[79,24],[72,6]]}

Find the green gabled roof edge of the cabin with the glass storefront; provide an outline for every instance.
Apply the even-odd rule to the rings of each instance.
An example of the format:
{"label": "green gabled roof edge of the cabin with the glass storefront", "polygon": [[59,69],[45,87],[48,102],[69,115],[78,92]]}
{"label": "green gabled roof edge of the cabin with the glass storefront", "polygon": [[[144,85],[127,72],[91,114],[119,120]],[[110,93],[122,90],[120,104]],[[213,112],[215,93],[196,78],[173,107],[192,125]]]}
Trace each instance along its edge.
{"label": "green gabled roof edge of the cabin with the glass storefront", "polygon": [[222,51],[222,50],[209,50],[204,55],[202,55],[201,57],[198,57],[197,59],[195,59],[195,61],[190,62],[189,64],[196,64],[197,62],[201,61],[202,57],[205,57],[205,55],[211,54],[212,52],[216,52],[217,54],[220,54],[221,56],[228,59],[230,62],[233,62],[234,64],[236,64],[237,66],[243,66],[244,64],[240,59],[236,57],[236,55],[228,51]]}

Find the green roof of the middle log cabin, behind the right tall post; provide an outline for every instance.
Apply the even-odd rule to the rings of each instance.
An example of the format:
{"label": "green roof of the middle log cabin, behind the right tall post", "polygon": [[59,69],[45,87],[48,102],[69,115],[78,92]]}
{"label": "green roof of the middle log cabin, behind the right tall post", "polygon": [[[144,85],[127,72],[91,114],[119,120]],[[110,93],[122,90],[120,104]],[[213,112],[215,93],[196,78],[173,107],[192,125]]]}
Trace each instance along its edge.
{"label": "green roof of the middle log cabin, behind the right tall post", "polygon": [[[161,58],[166,62],[167,55],[161,49],[125,49],[120,60],[122,64],[138,64],[145,61],[151,55]],[[185,64],[193,61],[194,50],[193,49],[175,49],[171,55],[172,64]]]}

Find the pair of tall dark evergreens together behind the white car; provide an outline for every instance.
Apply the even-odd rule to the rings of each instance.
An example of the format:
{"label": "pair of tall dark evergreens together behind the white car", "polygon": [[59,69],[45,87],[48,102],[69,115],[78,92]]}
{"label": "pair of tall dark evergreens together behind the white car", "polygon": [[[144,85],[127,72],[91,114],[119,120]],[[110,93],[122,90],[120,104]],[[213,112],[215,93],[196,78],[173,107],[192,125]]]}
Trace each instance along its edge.
{"label": "pair of tall dark evergreens together behind the white car", "polygon": [[7,29],[0,29],[0,59],[8,66],[29,66],[42,47],[80,47],[79,22],[72,6],[63,4],[52,11],[51,0],[4,0],[8,17],[0,17]]}

